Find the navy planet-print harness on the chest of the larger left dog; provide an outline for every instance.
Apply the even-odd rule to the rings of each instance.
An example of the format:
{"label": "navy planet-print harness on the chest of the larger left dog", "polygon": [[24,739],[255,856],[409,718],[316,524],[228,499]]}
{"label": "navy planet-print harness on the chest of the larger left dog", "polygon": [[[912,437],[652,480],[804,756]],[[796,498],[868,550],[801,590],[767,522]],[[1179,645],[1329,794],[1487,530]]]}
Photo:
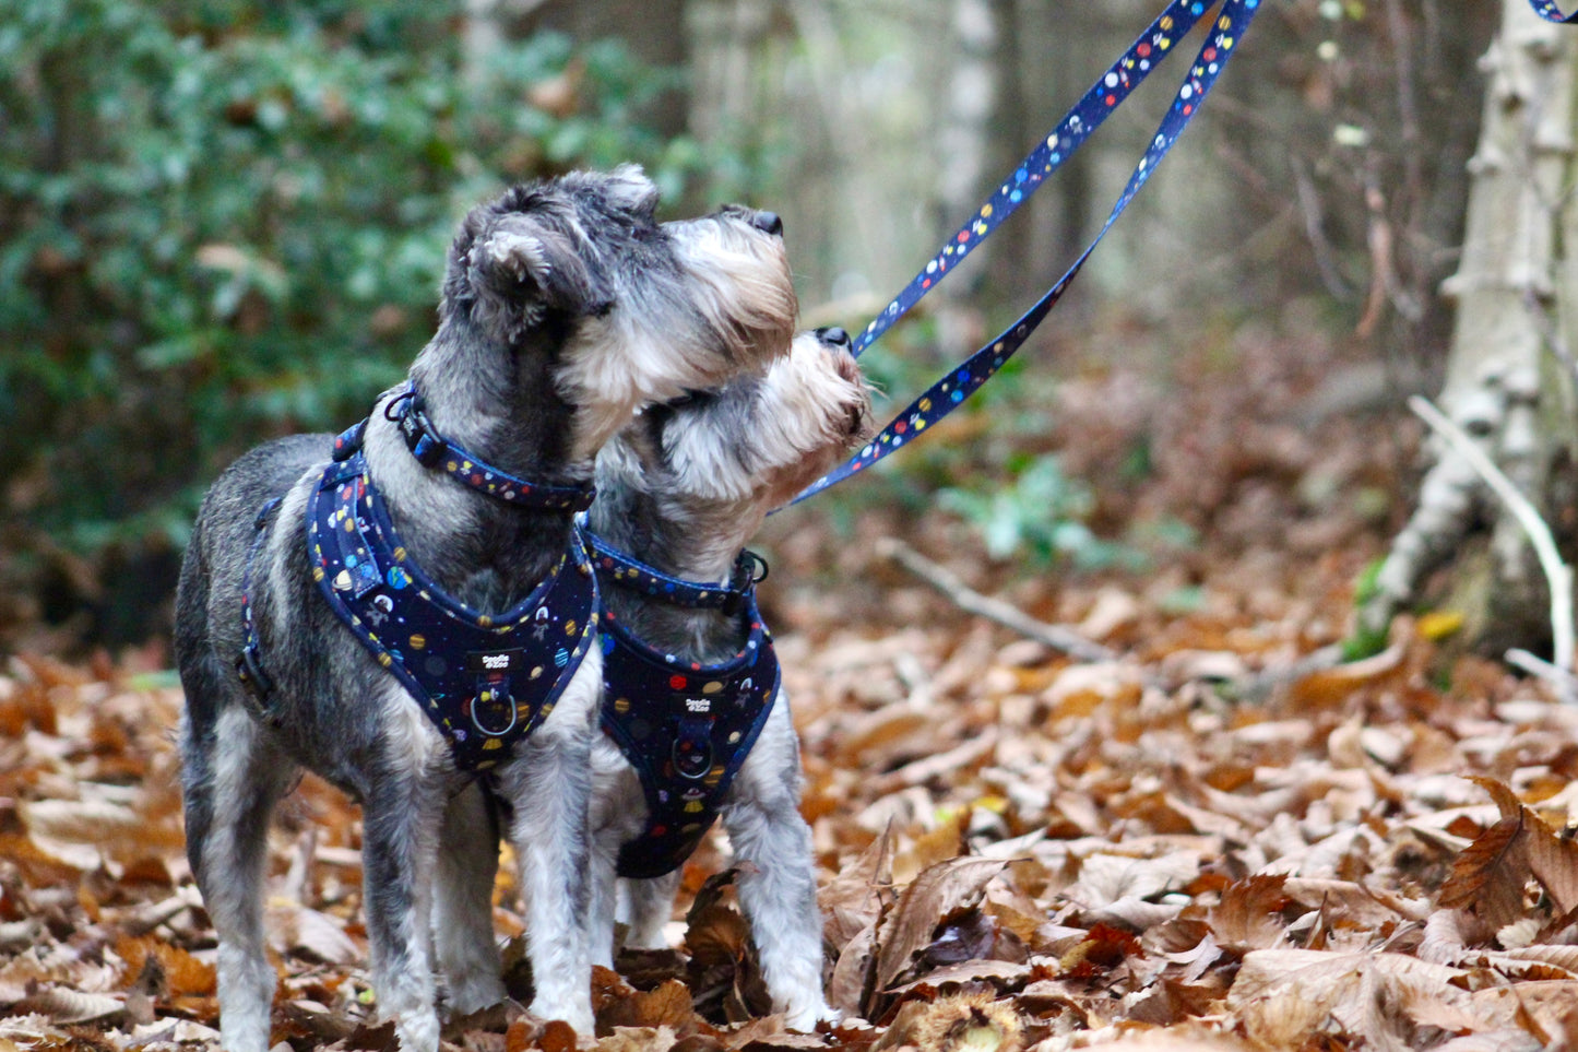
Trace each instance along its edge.
{"label": "navy planet-print harness on the chest of the larger left dog", "polygon": [[330,608],[412,692],[466,771],[492,768],[541,725],[596,635],[596,575],[579,531],[530,596],[478,613],[410,558],[360,452],[314,488],[308,548]]}

